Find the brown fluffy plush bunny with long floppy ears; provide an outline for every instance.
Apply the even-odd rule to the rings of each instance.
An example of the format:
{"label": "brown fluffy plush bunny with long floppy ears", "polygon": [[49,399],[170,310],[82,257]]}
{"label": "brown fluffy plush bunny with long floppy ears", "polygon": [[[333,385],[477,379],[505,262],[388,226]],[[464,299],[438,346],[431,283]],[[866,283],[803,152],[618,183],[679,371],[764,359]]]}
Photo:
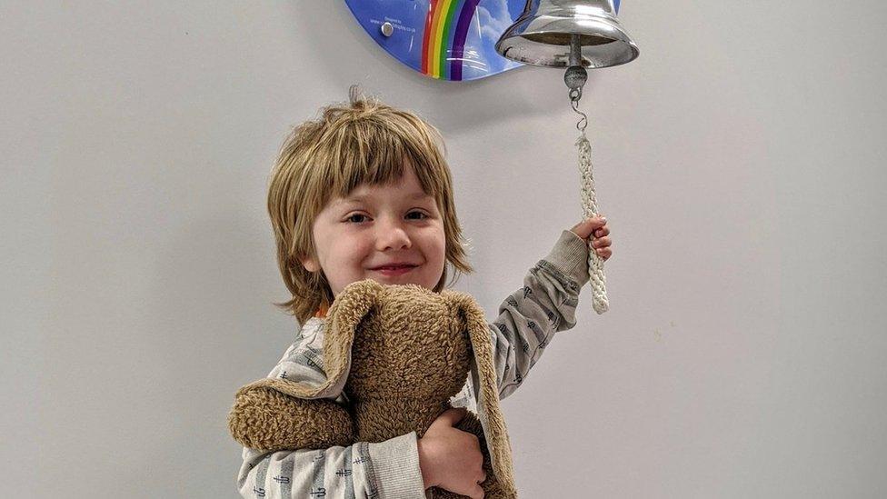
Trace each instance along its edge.
{"label": "brown fluffy plush bunny with long floppy ears", "polygon": [[[277,451],[378,443],[413,431],[421,438],[471,372],[480,418],[469,412],[456,427],[480,440],[484,496],[517,497],[491,332],[471,295],[367,279],[344,288],[325,325],[326,384],[264,378],[245,385],[228,416],[235,440]],[[339,391],[347,405],[321,398]]]}

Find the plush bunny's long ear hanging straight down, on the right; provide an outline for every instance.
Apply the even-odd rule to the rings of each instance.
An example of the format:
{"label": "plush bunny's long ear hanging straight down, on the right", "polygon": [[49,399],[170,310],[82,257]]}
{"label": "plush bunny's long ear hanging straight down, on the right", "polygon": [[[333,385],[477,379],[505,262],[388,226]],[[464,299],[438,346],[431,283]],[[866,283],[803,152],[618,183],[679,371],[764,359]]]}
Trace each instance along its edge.
{"label": "plush bunny's long ear hanging straight down, on the right", "polygon": [[493,473],[509,497],[517,496],[514,485],[512,447],[508,440],[505,419],[499,408],[499,390],[493,364],[493,344],[490,328],[483,316],[483,309],[469,294],[450,290],[441,292],[455,310],[463,314],[468,337],[471,340],[474,362],[471,365],[472,382],[477,387],[478,419],[483,426],[487,450]]}

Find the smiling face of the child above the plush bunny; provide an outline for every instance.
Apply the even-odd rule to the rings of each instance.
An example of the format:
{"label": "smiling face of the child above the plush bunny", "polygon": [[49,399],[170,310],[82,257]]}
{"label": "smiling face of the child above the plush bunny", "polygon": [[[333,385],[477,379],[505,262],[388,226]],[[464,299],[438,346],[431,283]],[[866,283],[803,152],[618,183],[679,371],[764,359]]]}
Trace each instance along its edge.
{"label": "smiling face of the child above the plush bunny", "polygon": [[[309,272],[323,269],[334,296],[363,279],[433,289],[443,274],[443,219],[409,165],[393,185],[359,185],[331,199],[312,230],[317,258],[302,264]],[[379,268],[401,263],[414,266]]]}

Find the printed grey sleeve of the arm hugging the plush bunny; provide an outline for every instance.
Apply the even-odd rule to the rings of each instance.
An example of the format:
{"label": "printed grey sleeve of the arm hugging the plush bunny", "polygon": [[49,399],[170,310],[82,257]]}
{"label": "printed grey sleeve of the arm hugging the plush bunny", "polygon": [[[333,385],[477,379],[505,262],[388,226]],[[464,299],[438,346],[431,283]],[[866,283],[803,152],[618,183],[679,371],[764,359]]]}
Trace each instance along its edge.
{"label": "printed grey sleeve of the arm hugging the plush bunny", "polygon": [[[268,377],[310,384],[326,381],[323,324],[316,318],[310,321]],[[345,401],[344,394],[329,395],[336,402]],[[326,449],[263,453],[244,447],[237,488],[249,498],[425,497],[415,432],[377,444],[358,442]]]}

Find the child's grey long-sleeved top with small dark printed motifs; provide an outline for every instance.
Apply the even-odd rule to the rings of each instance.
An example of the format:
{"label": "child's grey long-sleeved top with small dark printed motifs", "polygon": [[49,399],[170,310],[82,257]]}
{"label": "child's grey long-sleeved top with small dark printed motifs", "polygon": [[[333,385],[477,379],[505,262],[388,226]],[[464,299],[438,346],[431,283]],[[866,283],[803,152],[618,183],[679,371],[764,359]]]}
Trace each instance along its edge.
{"label": "child's grey long-sleeved top with small dark printed motifs", "polygon": [[[500,399],[523,383],[554,333],[576,324],[579,291],[588,282],[587,260],[585,241],[564,230],[552,251],[526,274],[523,286],[499,306],[499,315],[490,324],[490,341]],[[324,384],[323,346],[324,319],[313,317],[305,321],[300,336],[267,377]],[[475,391],[469,376],[450,402],[476,413]],[[341,388],[327,395],[347,403]],[[415,432],[378,444],[359,442],[319,450],[260,453],[244,447],[243,459],[237,477],[243,497],[425,497]]]}

